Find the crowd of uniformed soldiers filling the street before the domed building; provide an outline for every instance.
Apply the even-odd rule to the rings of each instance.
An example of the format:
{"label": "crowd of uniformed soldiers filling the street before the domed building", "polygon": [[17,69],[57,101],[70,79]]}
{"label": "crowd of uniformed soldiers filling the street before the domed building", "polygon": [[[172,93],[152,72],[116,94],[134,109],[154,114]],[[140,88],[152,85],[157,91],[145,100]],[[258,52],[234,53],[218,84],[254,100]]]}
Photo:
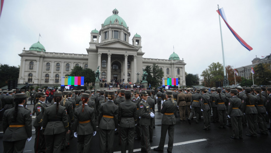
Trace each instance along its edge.
{"label": "crowd of uniformed soldiers filling the street before the domed building", "polygon": [[[187,119],[189,124],[193,116],[198,123],[203,115],[204,130],[210,129],[211,122],[219,122],[221,129],[232,126],[230,138],[233,139],[243,138],[242,126],[247,124],[250,137],[256,137],[257,133],[268,135],[271,130],[267,127],[271,119],[270,87],[213,87],[210,91],[207,88],[175,88],[163,92],[161,89],[56,91],[50,106],[45,104],[46,94],[41,91],[38,89],[34,95],[31,112],[25,107],[30,93],[0,90],[4,152],[22,152],[26,140],[31,140],[32,126],[36,134],[35,152],[63,151],[68,149],[73,137],[78,138],[77,152],[90,152],[90,141],[97,128],[102,153],[113,152],[116,134],[121,152],[133,152],[134,140],[141,141],[141,152],[151,152],[156,104],[157,112],[163,117],[160,143],[155,151],[163,151],[168,131],[167,151],[172,152],[177,111],[179,120]],[[32,123],[34,113],[36,118]],[[20,136],[13,137],[15,134]]]}

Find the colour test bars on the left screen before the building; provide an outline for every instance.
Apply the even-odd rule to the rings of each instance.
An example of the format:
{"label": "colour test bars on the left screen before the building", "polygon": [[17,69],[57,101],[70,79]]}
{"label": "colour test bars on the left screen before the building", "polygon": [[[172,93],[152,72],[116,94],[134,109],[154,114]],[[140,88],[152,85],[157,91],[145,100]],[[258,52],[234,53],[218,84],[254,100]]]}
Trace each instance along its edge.
{"label": "colour test bars on the left screen before the building", "polygon": [[84,77],[62,76],[61,86],[84,86]]}

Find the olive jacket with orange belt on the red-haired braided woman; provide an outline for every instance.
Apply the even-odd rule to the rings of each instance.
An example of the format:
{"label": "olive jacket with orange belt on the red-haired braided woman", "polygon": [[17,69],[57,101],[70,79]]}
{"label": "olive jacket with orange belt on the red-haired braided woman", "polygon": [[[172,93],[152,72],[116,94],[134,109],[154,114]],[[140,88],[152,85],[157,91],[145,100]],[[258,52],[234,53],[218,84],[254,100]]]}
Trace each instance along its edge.
{"label": "olive jacket with orange belt on the red-haired braided woman", "polygon": [[[78,135],[93,134],[96,131],[94,108],[85,104],[84,111],[83,106],[75,108],[74,111],[74,132]],[[88,121],[87,123],[80,123]]]}

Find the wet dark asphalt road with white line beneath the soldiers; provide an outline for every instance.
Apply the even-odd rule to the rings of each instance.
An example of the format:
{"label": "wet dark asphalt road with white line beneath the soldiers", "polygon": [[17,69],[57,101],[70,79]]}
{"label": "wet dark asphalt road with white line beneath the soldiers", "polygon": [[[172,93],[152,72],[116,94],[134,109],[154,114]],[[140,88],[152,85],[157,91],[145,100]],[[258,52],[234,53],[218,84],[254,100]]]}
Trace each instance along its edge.
{"label": "wet dark asphalt road with white line beneath the soldiers", "polygon": [[[28,108],[33,109],[33,105],[29,105]],[[178,114],[179,115],[179,114]],[[153,134],[153,142],[151,143],[152,152],[156,152],[153,148],[159,145],[160,134],[161,134],[161,118],[162,114],[159,112],[155,113],[155,125]],[[33,116],[34,118],[34,116]],[[181,122],[177,118],[177,124],[175,125],[174,135],[174,147],[172,152],[174,153],[204,153],[204,152],[219,152],[219,153],[267,153],[271,152],[271,133],[269,136],[258,134],[256,138],[247,137],[249,133],[248,126],[243,127],[243,140],[233,140],[230,138],[233,133],[231,127],[226,129],[219,129],[219,123],[211,123],[209,131],[203,130],[203,119],[196,124],[195,121],[191,121],[191,125],[188,122]],[[32,119],[32,122],[34,119]],[[0,152],[3,152],[3,133],[2,123],[0,122]],[[33,127],[32,139],[26,142],[24,152],[34,152],[34,140],[35,140],[35,128]],[[63,152],[76,152],[76,141],[77,138],[70,139],[70,147]],[[166,144],[164,152],[167,152],[168,137],[166,137]],[[91,139],[91,152],[99,152],[99,129],[97,130],[96,136]],[[120,145],[118,144],[118,135],[115,135],[114,141],[114,152],[120,152]],[[140,141],[135,140],[134,152],[140,152]]]}

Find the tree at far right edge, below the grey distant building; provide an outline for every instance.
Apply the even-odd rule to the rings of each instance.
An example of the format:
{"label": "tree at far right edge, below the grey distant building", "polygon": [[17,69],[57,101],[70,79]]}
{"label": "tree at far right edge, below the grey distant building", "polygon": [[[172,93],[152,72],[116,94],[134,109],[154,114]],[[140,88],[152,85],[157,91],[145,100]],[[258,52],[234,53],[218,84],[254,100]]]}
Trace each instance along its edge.
{"label": "tree at far right edge, below the grey distant building", "polygon": [[271,81],[270,64],[260,63],[256,65],[253,69],[255,72],[255,74],[253,75],[253,78],[254,78],[254,83],[256,85],[270,85],[270,81]]}

